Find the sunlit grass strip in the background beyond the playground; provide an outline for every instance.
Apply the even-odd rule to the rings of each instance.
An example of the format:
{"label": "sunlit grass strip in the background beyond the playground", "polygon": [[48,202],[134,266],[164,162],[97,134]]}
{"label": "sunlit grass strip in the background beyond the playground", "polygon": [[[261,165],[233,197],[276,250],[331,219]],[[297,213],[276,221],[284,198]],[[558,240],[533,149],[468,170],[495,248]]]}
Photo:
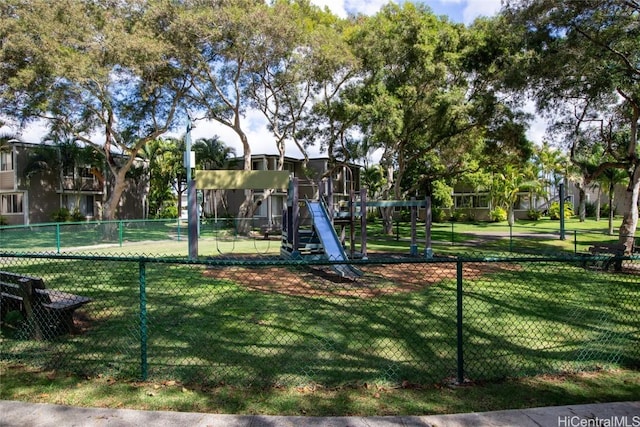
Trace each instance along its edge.
{"label": "sunlit grass strip in the background beyond the playground", "polygon": [[[620,226],[615,221],[615,229]],[[235,254],[277,254],[277,240],[246,239],[232,229],[220,228],[224,223],[205,223],[201,227],[199,252],[203,256],[234,256]],[[511,252],[585,252],[598,242],[615,241],[608,235],[608,222],[576,218],[566,221],[566,240],[558,238],[559,221],[543,218],[539,221],[520,220],[512,229],[507,223],[434,223],[434,252],[456,254],[468,251]],[[55,224],[30,227],[7,227],[0,230],[0,247],[14,251],[62,252],[84,251],[99,254],[154,254],[186,256],[187,227],[175,220],[122,221],[115,223],[61,224],[57,234]],[[359,233],[359,230],[357,230]],[[510,234],[513,236],[510,238]],[[407,223],[395,224],[393,235],[383,235],[381,224],[369,223],[367,236],[370,250],[407,251],[411,235]],[[424,247],[424,224],[418,224],[417,239]],[[359,244],[360,237],[356,237]],[[151,243],[158,242],[158,243]]]}

